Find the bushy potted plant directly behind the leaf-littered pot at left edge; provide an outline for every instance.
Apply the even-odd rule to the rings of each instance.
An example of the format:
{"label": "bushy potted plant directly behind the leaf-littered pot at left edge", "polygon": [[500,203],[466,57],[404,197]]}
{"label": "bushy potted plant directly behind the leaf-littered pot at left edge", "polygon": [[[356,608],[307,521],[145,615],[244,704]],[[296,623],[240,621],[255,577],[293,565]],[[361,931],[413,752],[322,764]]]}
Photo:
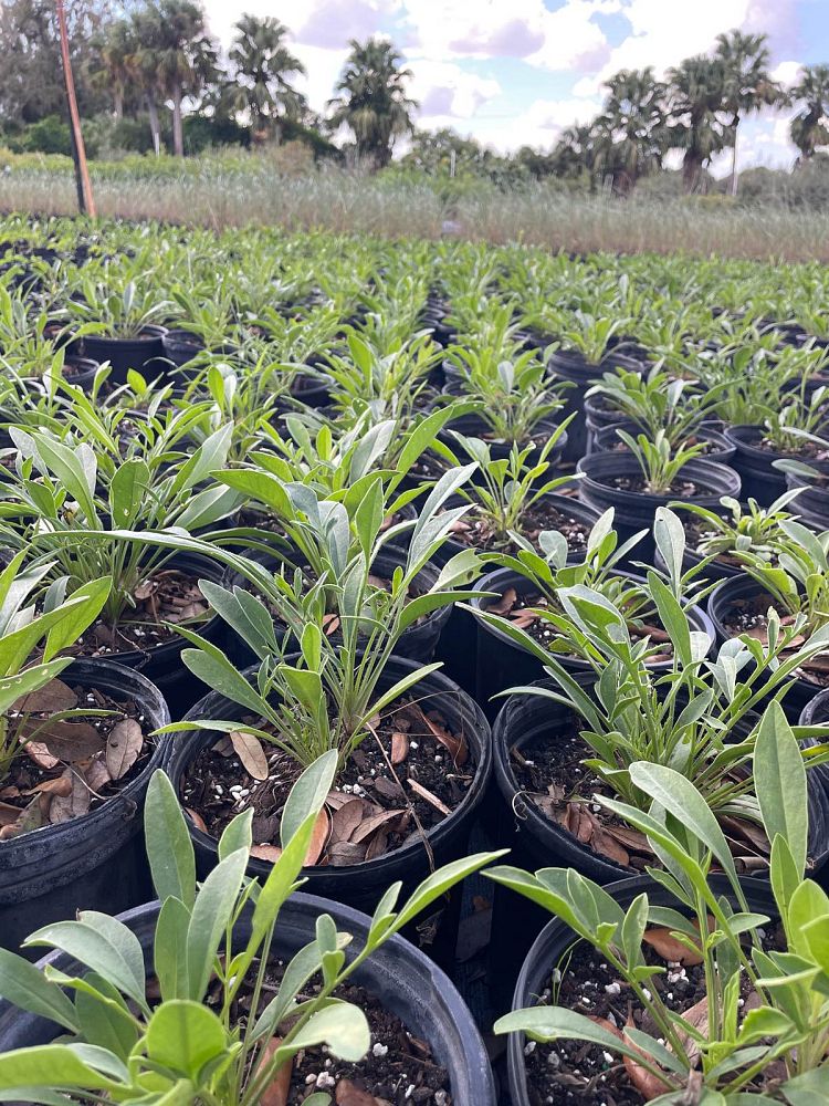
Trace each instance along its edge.
{"label": "bushy potted plant directly behind the leaf-littered pot at left edge", "polygon": [[208,607],[197,581],[210,574],[211,562],[170,563],[169,549],[128,545],[114,532],[118,526],[195,531],[239,504],[235,492],[209,482],[228,455],[232,426],[217,430],[189,457],[181,448],[200,415],[192,407],[165,421],[133,419],[123,410],[97,408],[75,389],[60,437],[48,428],[11,431],[17,465],[0,481],[0,531],[8,545],[29,550],[49,564],[52,576],[65,576],[70,592],[102,575],[112,580],[101,618],[78,655],[143,669],[174,710],[186,709],[198,692],[177,665],[181,643],[168,624],[204,622]]}

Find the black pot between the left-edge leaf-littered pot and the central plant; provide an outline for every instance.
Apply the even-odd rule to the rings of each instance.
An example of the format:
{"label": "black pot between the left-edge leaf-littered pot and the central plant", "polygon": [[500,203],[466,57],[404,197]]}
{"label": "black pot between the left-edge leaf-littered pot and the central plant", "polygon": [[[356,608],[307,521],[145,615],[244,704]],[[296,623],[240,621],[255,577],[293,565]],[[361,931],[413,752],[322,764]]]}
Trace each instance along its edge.
{"label": "black pot between the left-edge leaf-littered pot and the central plant", "polygon": [[[198,580],[210,580],[217,584],[223,577],[223,568],[217,561],[197,553],[177,553],[165,567],[180,568]],[[224,632],[224,623],[218,615],[213,615],[197,628],[209,641],[219,641]],[[206,685],[185,668],[181,661],[181,650],[188,648],[188,645],[183,637],[176,635],[149,649],[113,654],[113,660],[118,665],[143,672],[148,680],[160,688],[174,721],[182,718],[188,708],[207,690]]]}

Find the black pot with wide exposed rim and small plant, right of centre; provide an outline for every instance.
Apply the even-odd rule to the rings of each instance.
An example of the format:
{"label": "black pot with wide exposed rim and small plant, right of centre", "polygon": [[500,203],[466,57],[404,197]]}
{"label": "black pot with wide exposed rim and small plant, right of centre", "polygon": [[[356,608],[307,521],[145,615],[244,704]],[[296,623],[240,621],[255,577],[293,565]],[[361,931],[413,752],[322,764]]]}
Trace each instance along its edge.
{"label": "black pot with wide exposed rim and small plant, right of centre", "polygon": [[[641,476],[639,462],[632,453],[592,453],[578,463],[584,473],[578,484],[579,499],[598,511],[615,509],[613,525],[619,540],[626,541],[640,530],[648,534],[637,546],[633,556],[647,561],[653,555],[653,520],[658,507],[667,507],[676,499],[675,494],[654,495],[650,492],[627,491],[615,488],[610,480],[615,477],[636,478]],[[739,499],[739,477],[725,465],[716,461],[693,460],[685,465],[680,479],[691,480],[697,489],[693,502],[700,507],[716,510],[723,495]]]}

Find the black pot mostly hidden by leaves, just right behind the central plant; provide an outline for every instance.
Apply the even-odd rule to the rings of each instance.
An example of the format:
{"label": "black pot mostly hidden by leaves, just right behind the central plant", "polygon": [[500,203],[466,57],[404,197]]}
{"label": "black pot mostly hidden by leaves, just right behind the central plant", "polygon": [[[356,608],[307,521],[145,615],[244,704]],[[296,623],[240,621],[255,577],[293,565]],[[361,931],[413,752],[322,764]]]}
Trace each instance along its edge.
{"label": "black pot mostly hidden by leaves, just right behind the central plant", "polygon": [[[514,587],[520,596],[532,593],[533,586],[525,576],[511,568],[496,568],[482,576],[476,585],[482,592],[494,592],[503,595],[508,587]],[[475,611],[486,609],[492,599],[472,599],[470,606]],[[714,641],[714,627],[701,607],[689,611],[689,619],[694,629],[703,630]],[[478,701],[492,721],[501,709],[503,700],[492,697],[512,687],[523,687],[534,684],[544,677],[542,662],[528,650],[522,648],[508,637],[499,626],[492,626],[478,618]],[[587,672],[590,669],[586,661],[578,657],[556,654],[557,660],[573,675]],[[670,661],[653,665],[653,671],[670,667]]]}

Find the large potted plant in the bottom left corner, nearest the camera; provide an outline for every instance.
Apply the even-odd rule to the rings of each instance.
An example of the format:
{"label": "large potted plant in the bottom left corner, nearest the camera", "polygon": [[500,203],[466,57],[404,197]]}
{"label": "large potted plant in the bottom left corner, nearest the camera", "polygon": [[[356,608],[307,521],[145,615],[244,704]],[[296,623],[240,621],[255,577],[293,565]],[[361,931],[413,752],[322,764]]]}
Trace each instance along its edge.
{"label": "large potted plant in the bottom left corner, nearest the camera", "polygon": [[[228,827],[217,868],[197,885],[175,791],[156,773],[145,818],[160,900],[147,919],[155,921],[155,933],[145,927],[143,942],[128,925],[130,916],[82,911],[77,920],[29,938],[28,948],[59,953],[46,958],[42,974],[13,953],[0,956],[0,993],[19,1008],[24,1026],[22,1033],[9,1027],[8,1006],[0,1013],[7,1040],[23,1037],[22,1046],[0,1055],[0,1094],[38,1103],[70,1093],[81,1102],[254,1106],[285,1103],[300,1088],[304,1096],[305,1071],[315,1064],[327,1077],[317,1079],[318,1089],[304,1102],[324,1106],[333,1095],[340,1103],[348,1095],[370,1097],[351,1079],[360,1078],[359,1061],[376,1029],[364,1010],[371,1005],[370,989],[379,990],[392,1015],[412,1012],[405,987],[395,994],[382,983],[380,964],[390,963],[384,946],[390,942],[389,952],[409,969],[409,985],[417,989],[421,961],[396,935],[496,854],[436,872],[400,907],[400,885],[391,885],[371,919],[345,917],[357,924],[355,940],[339,929],[336,907],[328,912],[325,900],[292,897],[335,766],[336,754],[329,753],[297,780],[285,808],[282,853],[261,885],[245,878],[250,812]],[[398,969],[397,978],[402,974]],[[492,1075],[480,1036],[451,984],[443,977],[440,982],[449,1001],[437,1000],[436,1013],[419,1018],[418,1029],[431,1037],[426,1055],[434,1047],[451,1070],[453,1095],[491,1106]],[[450,1009],[466,1058],[447,1039]],[[414,1057],[410,1063],[413,1073]]]}

